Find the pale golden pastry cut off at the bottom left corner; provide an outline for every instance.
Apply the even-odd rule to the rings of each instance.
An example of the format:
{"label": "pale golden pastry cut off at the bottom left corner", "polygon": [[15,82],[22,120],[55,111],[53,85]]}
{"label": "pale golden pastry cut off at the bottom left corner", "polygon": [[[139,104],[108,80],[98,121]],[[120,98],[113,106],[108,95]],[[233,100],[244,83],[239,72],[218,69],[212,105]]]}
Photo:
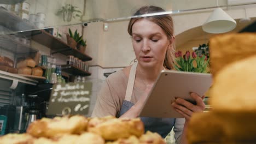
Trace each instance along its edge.
{"label": "pale golden pastry cut off at the bottom left corner", "polygon": [[28,134],[7,134],[0,137],[0,144],[30,144],[33,142],[33,137]]}

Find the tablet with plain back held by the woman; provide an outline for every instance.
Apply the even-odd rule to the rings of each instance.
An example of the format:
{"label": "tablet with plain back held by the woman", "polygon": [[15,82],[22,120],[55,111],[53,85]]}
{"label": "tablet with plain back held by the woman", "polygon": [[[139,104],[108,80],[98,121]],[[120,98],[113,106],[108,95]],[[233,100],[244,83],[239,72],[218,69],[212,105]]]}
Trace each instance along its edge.
{"label": "tablet with plain back held by the woman", "polygon": [[189,93],[194,92],[202,97],[211,84],[211,74],[162,70],[139,116],[182,118],[171,106],[175,97],[195,103]]}

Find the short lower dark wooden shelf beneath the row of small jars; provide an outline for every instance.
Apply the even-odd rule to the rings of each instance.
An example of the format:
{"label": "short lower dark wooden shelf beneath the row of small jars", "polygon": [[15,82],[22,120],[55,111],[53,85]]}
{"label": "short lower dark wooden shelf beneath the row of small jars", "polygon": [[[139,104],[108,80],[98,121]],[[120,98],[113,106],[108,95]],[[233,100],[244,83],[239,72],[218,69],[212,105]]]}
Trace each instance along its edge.
{"label": "short lower dark wooden shelf beneath the row of small jars", "polygon": [[71,74],[71,75],[79,75],[79,76],[89,76],[91,73],[88,71],[84,71],[82,69],[79,69],[73,65],[61,65],[61,70],[65,73]]}

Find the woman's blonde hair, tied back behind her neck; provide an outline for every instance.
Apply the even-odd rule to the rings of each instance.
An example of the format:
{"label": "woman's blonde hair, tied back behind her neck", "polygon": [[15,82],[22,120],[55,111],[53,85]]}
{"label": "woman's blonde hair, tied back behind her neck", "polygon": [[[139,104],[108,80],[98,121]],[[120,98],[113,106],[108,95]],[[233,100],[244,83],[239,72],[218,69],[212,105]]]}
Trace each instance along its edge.
{"label": "woman's blonde hair, tied back behind her neck", "polygon": [[[155,6],[146,6],[138,9],[134,16],[136,15],[143,15],[143,14],[150,14],[150,13],[159,13],[164,12],[165,10],[159,7]],[[139,19],[148,19],[154,23],[156,23],[158,26],[162,28],[162,30],[167,35],[168,39],[173,39],[172,41],[172,47],[171,49],[167,49],[165,53],[165,61],[164,61],[164,67],[167,69],[173,69],[173,62],[174,62],[174,52],[175,52],[175,46],[174,46],[174,38],[173,38],[173,20],[171,15],[164,14],[164,15],[158,15],[158,16],[147,16],[147,17],[133,17],[131,18],[127,31],[132,36],[132,26],[133,24],[139,20]]]}

